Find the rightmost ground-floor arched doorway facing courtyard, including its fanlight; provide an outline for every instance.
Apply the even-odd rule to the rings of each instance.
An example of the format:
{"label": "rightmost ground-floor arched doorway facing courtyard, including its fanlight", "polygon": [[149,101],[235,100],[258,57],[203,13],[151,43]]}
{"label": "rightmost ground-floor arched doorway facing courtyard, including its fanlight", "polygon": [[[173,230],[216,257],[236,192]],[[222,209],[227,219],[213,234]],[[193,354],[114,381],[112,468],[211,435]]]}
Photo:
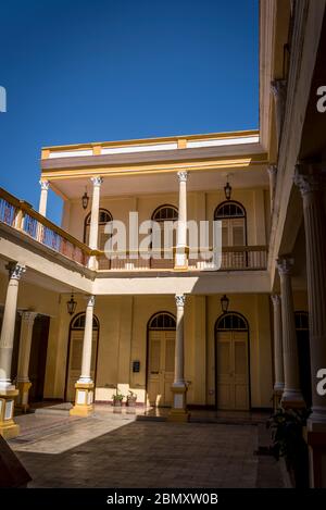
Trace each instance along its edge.
{"label": "rightmost ground-floor arched doorway facing courtyard, including its fanlight", "polygon": [[236,312],[215,323],[216,408],[246,411],[250,408],[249,326]]}

